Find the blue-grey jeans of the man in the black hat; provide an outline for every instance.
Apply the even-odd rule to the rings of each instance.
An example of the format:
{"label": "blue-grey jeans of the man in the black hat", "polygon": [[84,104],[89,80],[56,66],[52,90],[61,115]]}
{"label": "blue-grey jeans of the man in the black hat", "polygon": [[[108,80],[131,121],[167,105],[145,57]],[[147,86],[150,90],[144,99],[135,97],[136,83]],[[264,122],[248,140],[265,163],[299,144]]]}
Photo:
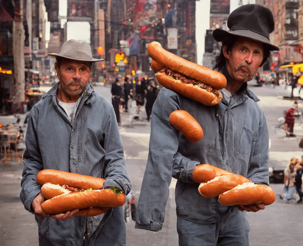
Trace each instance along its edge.
{"label": "blue-grey jeans of the man in the black hat", "polygon": [[226,220],[218,214],[212,224],[198,224],[177,217],[179,246],[249,246],[246,212],[238,209]]}

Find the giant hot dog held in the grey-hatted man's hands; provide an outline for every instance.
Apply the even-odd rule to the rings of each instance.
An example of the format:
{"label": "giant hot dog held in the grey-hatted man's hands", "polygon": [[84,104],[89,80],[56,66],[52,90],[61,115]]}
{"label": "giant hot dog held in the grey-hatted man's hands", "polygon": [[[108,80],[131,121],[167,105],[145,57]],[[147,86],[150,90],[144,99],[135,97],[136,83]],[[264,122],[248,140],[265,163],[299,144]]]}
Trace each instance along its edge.
{"label": "giant hot dog held in the grey-hatted man's hands", "polygon": [[45,169],[36,179],[42,185],[42,196],[49,199],[41,204],[42,211],[47,214],[80,209],[75,215],[95,216],[125,203],[122,191],[114,187],[103,189],[105,180],[102,178]]}

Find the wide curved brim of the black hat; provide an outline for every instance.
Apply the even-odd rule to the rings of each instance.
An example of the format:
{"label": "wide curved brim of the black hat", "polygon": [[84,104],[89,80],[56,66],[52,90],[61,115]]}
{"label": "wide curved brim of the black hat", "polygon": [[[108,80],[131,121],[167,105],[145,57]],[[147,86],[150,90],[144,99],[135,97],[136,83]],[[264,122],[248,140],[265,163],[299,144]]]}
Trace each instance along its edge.
{"label": "wide curved brim of the black hat", "polygon": [[250,38],[252,40],[255,40],[255,41],[268,45],[268,47],[270,48],[270,51],[280,50],[279,47],[272,45],[270,43],[270,41],[267,38],[265,38],[264,36],[262,36],[258,33],[255,33],[255,32],[251,32],[249,30],[235,30],[235,31],[227,32],[223,29],[215,29],[212,32],[212,36],[215,38],[215,40],[217,42],[222,42],[222,40],[224,39],[224,37],[226,35],[235,35],[235,36],[239,36],[239,37]]}

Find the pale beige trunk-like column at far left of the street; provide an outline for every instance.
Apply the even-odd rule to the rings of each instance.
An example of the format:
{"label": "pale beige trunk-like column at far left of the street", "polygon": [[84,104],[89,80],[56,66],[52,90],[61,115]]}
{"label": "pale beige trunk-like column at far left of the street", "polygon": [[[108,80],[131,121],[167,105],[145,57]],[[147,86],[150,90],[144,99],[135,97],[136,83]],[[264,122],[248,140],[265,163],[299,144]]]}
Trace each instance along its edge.
{"label": "pale beige trunk-like column at far left of the street", "polygon": [[23,0],[15,2],[15,19],[13,22],[13,55],[16,103],[25,101],[25,64],[24,64]]}

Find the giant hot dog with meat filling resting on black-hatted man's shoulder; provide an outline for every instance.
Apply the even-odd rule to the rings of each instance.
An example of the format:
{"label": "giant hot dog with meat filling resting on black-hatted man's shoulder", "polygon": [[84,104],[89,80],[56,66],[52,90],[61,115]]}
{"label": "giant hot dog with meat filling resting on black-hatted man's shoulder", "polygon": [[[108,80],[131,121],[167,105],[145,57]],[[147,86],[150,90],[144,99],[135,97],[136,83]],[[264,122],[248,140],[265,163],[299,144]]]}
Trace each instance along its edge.
{"label": "giant hot dog with meat filling resting on black-hatted man's shoulder", "polygon": [[[223,74],[187,61],[161,47],[158,42],[147,46],[148,55],[165,69],[156,74],[157,81],[172,91],[205,105],[216,105],[222,99],[218,89],[226,86]],[[159,65],[154,65],[158,70]]]}

